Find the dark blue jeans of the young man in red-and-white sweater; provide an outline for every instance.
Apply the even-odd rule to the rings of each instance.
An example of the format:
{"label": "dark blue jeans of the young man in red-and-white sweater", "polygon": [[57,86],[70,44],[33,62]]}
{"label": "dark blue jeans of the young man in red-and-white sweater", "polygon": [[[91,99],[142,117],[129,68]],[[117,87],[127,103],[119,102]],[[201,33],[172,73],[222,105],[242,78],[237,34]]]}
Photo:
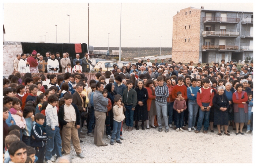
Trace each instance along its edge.
{"label": "dark blue jeans of the young man in red-and-white sweater", "polygon": [[[210,103],[202,103],[203,107],[208,107]],[[202,128],[203,120],[204,120],[204,131],[208,130],[209,126],[209,116],[210,116],[210,110],[209,111],[202,111],[202,109],[199,107],[199,118],[197,121],[197,128],[196,130],[200,131]]]}

